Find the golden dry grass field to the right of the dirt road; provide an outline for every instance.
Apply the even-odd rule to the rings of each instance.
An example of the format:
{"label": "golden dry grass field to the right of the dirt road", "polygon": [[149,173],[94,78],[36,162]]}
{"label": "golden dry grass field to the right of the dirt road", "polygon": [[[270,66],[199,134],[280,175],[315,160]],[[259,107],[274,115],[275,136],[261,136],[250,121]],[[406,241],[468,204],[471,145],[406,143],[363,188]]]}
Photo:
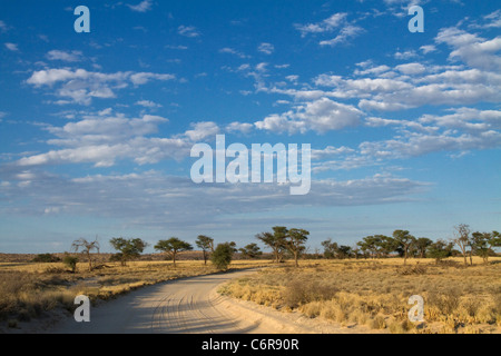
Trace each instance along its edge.
{"label": "golden dry grass field to the right of the dirt road", "polygon": [[[464,268],[459,259],[318,260],[266,269],[222,293],[342,325],[391,333],[501,332],[501,258]],[[424,323],[409,322],[410,296],[424,299]]]}

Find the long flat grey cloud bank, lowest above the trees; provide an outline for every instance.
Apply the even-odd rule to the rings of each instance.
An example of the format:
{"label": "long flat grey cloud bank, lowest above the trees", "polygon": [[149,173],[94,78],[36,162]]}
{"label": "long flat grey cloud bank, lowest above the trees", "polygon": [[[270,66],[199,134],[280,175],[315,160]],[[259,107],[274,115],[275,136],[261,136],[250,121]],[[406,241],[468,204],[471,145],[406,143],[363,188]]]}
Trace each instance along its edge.
{"label": "long flat grey cloud bank, lowest above the trees", "polygon": [[[41,215],[47,211],[114,218],[125,229],[173,230],[188,226],[199,230],[207,228],[207,224],[220,226],[223,215],[224,226],[229,228],[232,219],[228,215],[266,214],[284,206],[335,207],[409,201],[412,195],[430,187],[426,182],[377,175],[352,180],[314,180],[310,194],[296,199],[289,195],[288,185],[195,185],[189,177],[168,176],[156,170],[78,178],[29,174],[29,180],[23,180],[6,177],[0,171],[2,178],[13,182],[0,187],[2,196],[10,201],[8,207],[0,207],[1,214]],[[29,184],[21,185],[23,182]],[[27,196],[30,197],[29,205],[22,202]],[[242,218],[237,224],[234,228],[242,229]]]}

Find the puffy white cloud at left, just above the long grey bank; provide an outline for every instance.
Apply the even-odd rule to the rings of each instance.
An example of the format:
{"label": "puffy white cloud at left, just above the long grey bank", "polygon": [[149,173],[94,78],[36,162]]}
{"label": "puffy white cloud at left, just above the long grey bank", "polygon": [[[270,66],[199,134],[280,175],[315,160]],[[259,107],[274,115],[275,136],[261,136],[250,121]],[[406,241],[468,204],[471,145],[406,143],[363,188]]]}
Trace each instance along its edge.
{"label": "puffy white cloud at left, just above the long grey bank", "polygon": [[92,164],[111,167],[118,160],[132,160],[137,165],[157,164],[164,159],[189,156],[193,142],[184,137],[155,137],[166,118],[145,115],[141,118],[87,116],[62,127],[47,127],[55,136],[48,145],[60,147],[48,152],[29,155],[18,161],[19,167],[62,164]]}

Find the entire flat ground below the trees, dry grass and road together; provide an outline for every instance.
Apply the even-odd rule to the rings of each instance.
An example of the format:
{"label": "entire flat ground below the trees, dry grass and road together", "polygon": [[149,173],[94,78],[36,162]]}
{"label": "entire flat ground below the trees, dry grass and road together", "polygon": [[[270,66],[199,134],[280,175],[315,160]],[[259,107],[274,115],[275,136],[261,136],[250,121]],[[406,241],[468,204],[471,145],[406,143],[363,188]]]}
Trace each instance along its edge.
{"label": "entire flat ground below the trees, dry grass and road together", "polygon": [[[500,333],[501,258],[0,264],[0,333]],[[92,300],[76,323],[73,298]],[[409,322],[409,297],[424,323]],[[65,310],[66,309],[66,310]],[[60,323],[53,323],[56,316]]]}

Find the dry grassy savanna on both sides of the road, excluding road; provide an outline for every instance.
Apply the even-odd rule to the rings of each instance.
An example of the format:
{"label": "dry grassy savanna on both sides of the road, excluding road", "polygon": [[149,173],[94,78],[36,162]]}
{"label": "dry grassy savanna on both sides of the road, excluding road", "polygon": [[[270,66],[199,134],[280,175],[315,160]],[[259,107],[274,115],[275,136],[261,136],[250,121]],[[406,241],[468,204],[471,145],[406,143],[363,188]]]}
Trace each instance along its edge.
{"label": "dry grassy savanna on both sides of the road, excluding road", "polygon": [[[268,259],[234,260],[230,269],[258,268],[233,279],[218,293],[313,322],[332,323],[364,333],[499,334],[501,332],[501,257],[485,264],[474,257],[464,266],[450,257],[432,259],[303,259],[282,264]],[[106,303],[132,289],[166,280],[220,273],[203,260],[104,261],[77,273],[62,263],[0,264],[0,330],[70,317],[75,297]],[[423,322],[411,322],[409,298],[424,300]]]}

